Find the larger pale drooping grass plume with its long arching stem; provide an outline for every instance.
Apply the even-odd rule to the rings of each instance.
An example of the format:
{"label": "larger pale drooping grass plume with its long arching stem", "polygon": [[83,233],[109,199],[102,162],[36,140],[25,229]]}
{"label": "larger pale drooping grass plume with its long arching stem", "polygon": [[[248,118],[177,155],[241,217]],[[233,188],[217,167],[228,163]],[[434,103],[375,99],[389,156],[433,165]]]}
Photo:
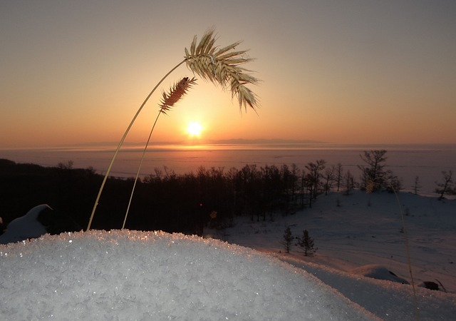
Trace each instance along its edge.
{"label": "larger pale drooping grass plume with its long arching stem", "polygon": [[[136,111],[135,116],[133,116],[133,119],[130,121],[130,124],[125,130],[125,133],[123,134],[122,138],[120,138],[113,158],[111,159],[108,166],[108,170],[106,170],[105,177],[103,178],[103,182],[100,186],[100,190],[98,190],[95,204],[93,205],[93,210],[88,221],[87,230],[90,230],[90,225],[92,224],[93,216],[95,215],[95,211],[98,206],[101,193],[103,192],[106,180],[108,179],[110,170],[113,167],[115,158],[120,151],[120,147],[123,145],[125,138],[130,132],[130,128],[133,126],[133,123],[135,123],[136,118],[138,118],[138,115],[142,111],[142,108],[144,108],[150,96],[152,96],[152,93],[155,92],[155,90],[158,88],[158,86],[160,86],[165,78],[167,78],[167,76],[170,76],[170,74],[179,68],[183,63],[186,63],[187,67],[193,73],[196,73],[203,79],[212,81],[214,84],[219,84],[224,90],[231,91],[232,98],[234,98],[234,96],[237,96],[238,98],[239,108],[242,108],[244,105],[245,111],[247,111],[247,106],[256,111],[256,108],[259,107],[257,95],[251,89],[247,88],[247,85],[249,84],[256,85],[259,83],[259,79],[250,74],[252,71],[249,71],[248,69],[241,66],[245,63],[248,63],[249,61],[253,61],[253,58],[249,58],[247,56],[247,50],[234,50],[237,46],[239,46],[239,44],[241,44],[240,41],[237,41],[234,44],[230,44],[229,46],[222,47],[221,49],[218,46],[215,46],[216,39],[214,34],[214,29],[209,29],[202,36],[199,44],[197,44],[197,36],[194,36],[192,44],[190,45],[190,51],[185,48],[184,60],[180,61],[180,63],[177,63],[175,67],[173,67],[165,76],[163,76],[163,78],[160,79],[160,81],[158,81],[157,85],[152,88],[152,91],[150,91],[149,95],[147,95],[145,100],[142,102],[140,108],[138,108],[138,111]],[[170,96],[163,96],[163,105],[160,105],[160,113],[167,113],[167,111],[170,110],[173,105],[173,103],[171,103],[173,99],[175,99],[175,96],[172,96],[171,94]],[[155,123],[156,122],[157,120],[155,120]],[[152,131],[154,127],[152,127]],[[150,132],[151,134],[152,131]]]}

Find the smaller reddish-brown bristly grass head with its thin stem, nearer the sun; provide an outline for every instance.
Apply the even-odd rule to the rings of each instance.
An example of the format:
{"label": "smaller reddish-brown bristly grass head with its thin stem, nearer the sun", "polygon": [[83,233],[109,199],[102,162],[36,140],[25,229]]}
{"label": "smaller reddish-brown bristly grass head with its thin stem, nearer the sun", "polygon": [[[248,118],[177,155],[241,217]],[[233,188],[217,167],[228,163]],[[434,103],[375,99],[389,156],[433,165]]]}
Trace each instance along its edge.
{"label": "smaller reddish-brown bristly grass head with its thin stem, nearer the sun", "polygon": [[192,79],[185,77],[182,78],[180,81],[177,81],[177,83],[175,83],[174,86],[170,88],[170,91],[168,93],[166,93],[165,91],[162,92],[163,97],[162,101],[160,101],[160,111],[158,111],[157,118],[155,118],[154,124],[150,129],[149,137],[147,138],[147,142],[145,143],[144,150],[142,151],[140,165],[138,166],[138,171],[136,172],[135,181],[133,183],[133,188],[130,194],[130,200],[128,200],[127,211],[125,212],[125,218],[123,219],[122,229],[125,228],[125,223],[127,222],[128,213],[130,212],[131,201],[133,200],[133,194],[135,193],[136,183],[138,183],[138,177],[140,175],[142,167],[142,161],[144,161],[145,151],[147,151],[147,146],[149,146],[150,137],[152,136],[158,118],[162,113],[166,115],[166,112],[170,111],[172,106],[174,106],[174,104],[177,103],[177,101],[180,101],[180,98],[182,98],[182,96],[184,96],[185,93],[187,93],[187,91],[190,88],[192,88],[193,85],[195,85],[196,81],[197,80],[195,79],[195,77],[193,77]]}

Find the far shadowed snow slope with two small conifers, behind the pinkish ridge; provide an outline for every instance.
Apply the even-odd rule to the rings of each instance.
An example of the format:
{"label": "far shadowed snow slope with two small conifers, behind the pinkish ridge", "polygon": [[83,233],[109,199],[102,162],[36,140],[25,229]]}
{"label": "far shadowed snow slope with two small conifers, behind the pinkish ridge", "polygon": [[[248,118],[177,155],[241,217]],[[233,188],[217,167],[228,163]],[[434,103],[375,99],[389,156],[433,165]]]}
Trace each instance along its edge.
{"label": "far shadowed snow slope with two small conifers, behind the pinkish ridge", "polygon": [[[398,198],[406,233],[394,194],[356,191],[321,195],[313,208],[275,215],[272,222],[238,218],[233,228],[213,234],[229,243],[336,270],[382,265],[411,282],[407,237],[415,282],[437,279],[448,292],[456,293],[456,200],[439,201],[410,193],[399,193]],[[304,229],[309,231],[318,248],[314,257],[305,258],[298,246],[284,255],[280,242],[286,226],[294,236],[301,236]]]}

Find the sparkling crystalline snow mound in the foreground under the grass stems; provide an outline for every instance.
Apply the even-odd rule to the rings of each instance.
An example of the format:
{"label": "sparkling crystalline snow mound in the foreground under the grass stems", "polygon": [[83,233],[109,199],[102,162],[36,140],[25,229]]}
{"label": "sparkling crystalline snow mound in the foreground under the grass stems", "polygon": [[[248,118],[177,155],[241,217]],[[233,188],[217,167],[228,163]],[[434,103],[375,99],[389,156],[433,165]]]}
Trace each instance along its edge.
{"label": "sparkling crystalline snow mound in the foreground under the grass stems", "polygon": [[0,245],[1,320],[371,320],[303,270],[219,240],[90,230]]}

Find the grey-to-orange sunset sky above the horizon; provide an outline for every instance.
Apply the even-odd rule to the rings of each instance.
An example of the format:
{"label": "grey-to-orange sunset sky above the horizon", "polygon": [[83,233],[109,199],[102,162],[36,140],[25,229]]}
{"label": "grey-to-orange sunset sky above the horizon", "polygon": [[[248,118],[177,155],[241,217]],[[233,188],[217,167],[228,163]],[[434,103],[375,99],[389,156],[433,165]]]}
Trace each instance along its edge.
{"label": "grey-to-orange sunset sky above the horizon", "polygon": [[[201,141],[456,143],[455,16],[442,0],[0,0],[0,148],[118,142],[212,26],[256,58],[260,108],[198,79],[152,141],[190,141],[196,122]],[[147,139],[160,91],[127,141]]]}

